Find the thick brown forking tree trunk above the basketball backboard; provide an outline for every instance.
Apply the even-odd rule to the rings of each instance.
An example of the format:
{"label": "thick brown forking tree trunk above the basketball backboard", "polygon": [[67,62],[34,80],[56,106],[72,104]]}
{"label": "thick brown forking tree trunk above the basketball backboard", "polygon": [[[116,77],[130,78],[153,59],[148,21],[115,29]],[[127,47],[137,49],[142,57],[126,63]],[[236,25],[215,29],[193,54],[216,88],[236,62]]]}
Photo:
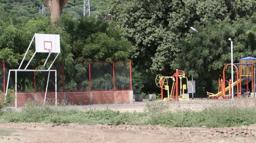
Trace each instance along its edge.
{"label": "thick brown forking tree trunk above the basketball backboard", "polygon": [[63,7],[68,0],[45,0],[45,3],[51,11],[51,21],[56,22],[61,18]]}

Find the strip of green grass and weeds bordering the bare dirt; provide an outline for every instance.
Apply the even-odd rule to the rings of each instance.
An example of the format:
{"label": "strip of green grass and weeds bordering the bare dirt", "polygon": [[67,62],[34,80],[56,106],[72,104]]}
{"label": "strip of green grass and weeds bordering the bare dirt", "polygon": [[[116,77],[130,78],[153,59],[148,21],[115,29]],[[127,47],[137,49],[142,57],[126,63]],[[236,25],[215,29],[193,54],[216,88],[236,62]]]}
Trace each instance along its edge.
{"label": "strip of green grass and weeds bordering the bare dirt", "polygon": [[147,104],[143,113],[105,110],[50,109],[29,102],[22,111],[1,111],[0,123],[78,123],[107,125],[164,125],[168,127],[236,127],[256,124],[256,106],[235,105],[206,108],[203,111],[168,111],[162,102]]}

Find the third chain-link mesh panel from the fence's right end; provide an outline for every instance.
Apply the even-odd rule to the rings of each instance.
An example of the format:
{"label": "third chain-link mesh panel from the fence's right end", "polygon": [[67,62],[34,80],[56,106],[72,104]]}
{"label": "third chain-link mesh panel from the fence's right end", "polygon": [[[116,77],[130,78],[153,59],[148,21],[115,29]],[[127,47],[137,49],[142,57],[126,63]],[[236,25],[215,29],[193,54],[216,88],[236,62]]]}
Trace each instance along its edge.
{"label": "third chain-link mesh panel from the fence's right end", "polygon": [[[76,63],[71,73],[64,71],[66,91],[89,91],[89,63]],[[61,81],[62,83],[62,81]]]}

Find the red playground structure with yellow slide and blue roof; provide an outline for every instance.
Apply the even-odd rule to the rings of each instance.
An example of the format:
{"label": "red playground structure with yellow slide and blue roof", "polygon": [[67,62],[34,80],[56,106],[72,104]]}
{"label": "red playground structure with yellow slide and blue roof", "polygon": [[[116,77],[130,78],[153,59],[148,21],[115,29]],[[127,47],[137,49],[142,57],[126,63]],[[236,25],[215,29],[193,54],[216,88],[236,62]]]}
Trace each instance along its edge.
{"label": "red playground structure with yellow slide and blue roof", "polygon": [[[219,98],[220,96],[224,99],[231,97],[232,92],[231,92],[231,87],[235,87],[236,86],[236,97],[237,98],[241,98],[242,95],[246,95],[247,93],[250,92],[249,90],[249,80],[251,79],[251,83],[252,83],[252,90],[253,91],[253,85],[254,85],[254,79],[253,79],[253,61],[256,60],[256,58],[253,57],[246,57],[246,58],[242,58],[239,59],[239,63],[234,63],[233,65],[231,64],[227,64],[224,66],[223,68],[223,79],[219,79],[219,89],[218,89],[218,93],[214,94],[214,93],[210,93],[210,92],[206,92],[207,95],[209,96],[209,98]],[[225,79],[225,69],[227,66],[234,66],[236,69],[236,81],[233,83],[233,85],[231,85],[231,80],[226,80]],[[238,68],[237,68],[238,65]],[[242,93],[242,81],[246,80],[246,94]],[[228,84],[227,87],[225,87],[225,84]],[[229,91],[229,94],[226,95],[226,92]]]}

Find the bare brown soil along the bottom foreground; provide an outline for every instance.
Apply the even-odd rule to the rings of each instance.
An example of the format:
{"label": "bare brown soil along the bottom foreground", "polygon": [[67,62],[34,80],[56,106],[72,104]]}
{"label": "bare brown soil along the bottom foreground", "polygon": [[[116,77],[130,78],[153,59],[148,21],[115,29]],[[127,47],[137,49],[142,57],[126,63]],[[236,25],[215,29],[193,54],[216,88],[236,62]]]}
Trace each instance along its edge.
{"label": "bare brown soil along the bottom foreground", "polygon": [[256,124],[229,128],[168,128],[164,126],[8,123],[0,124],[0,128],[15,131],[11,136],[0,136],[0,142],[7,143],[256,142]]}

